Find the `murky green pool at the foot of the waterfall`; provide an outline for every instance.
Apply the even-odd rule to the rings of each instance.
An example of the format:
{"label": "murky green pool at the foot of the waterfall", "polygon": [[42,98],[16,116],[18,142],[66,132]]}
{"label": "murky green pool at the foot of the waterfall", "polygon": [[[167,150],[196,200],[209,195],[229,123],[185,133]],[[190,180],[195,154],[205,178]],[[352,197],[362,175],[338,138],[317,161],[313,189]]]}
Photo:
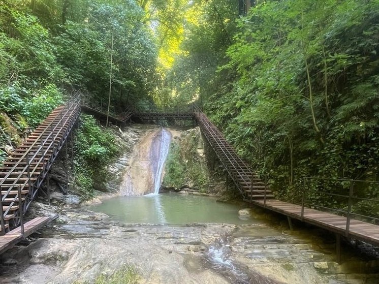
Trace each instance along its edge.
{"label": "murky green pool at the foot of the waterfall", "polygon": [[116,197],[88,209],[103,212],[112,219],[129,224],[188,223],[258,223],[251,218],[238,216],[244,207],[216,202],[216,198],[165,193],[139,197]]}

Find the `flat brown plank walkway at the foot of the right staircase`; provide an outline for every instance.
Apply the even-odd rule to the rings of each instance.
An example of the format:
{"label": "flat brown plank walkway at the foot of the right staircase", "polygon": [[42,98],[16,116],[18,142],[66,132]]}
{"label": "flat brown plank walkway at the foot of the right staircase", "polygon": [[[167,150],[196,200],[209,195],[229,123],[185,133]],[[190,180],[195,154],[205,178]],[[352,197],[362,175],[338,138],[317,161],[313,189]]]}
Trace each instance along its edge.
{"label": "flat brown plank walkway at the foot of the right staircase", "polygon": [[350,219],[350,228],[348,231],[346,230],[347,218],[344,216],[305,207],[304,215],[302,217],[300,205],[275,199],[266,200],[266,205],[264,204],[264,200],[247,201],[260,207],[287,215],[291,218],[321,227],[328,231],[379,246],[379,226],[377,225],[356,219]]}

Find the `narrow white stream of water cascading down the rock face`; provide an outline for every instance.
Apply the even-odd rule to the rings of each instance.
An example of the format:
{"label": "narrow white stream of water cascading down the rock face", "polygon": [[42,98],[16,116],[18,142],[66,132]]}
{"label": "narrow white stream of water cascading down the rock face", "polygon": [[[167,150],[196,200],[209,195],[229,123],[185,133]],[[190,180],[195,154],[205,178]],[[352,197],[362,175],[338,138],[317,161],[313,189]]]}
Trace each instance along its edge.
{"label": "narrow white stream of water cascading down the rock face", "polygon": [[[158,137],[157,137],[158,138]],[[165,166],[167,154],[169,153],[171,134],[165,129],[162,129],[159,133],[160,146],[159,149],[153,151],[154,160],[152,161],[153,170],[153,194],[158,194],[162,182],[162,173]],[[156,151],[157,150],[157,151]]]}

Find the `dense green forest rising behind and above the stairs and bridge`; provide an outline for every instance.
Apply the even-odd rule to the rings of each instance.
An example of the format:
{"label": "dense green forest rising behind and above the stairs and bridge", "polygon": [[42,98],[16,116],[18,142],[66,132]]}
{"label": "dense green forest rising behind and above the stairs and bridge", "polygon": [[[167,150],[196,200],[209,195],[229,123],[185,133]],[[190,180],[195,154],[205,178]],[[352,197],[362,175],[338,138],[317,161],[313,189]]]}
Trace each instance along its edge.
{"label": "dense green forest rising behind and above the stairs and bridge", "polygon": [[3,145],[110,91],[113,112],[197,102],[281,198],[377,179],[379,0],[1,0],[0,23]]}

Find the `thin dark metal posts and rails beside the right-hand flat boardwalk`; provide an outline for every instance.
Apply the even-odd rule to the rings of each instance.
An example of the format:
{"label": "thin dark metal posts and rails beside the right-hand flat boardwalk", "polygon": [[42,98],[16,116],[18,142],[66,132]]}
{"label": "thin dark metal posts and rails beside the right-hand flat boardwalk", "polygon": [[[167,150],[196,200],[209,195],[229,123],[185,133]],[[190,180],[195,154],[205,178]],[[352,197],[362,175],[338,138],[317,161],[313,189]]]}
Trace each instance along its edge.
{"label": "thin dark metal posts and rails beside the right-hand flat boardwalk", "polygon": [[[313,181],[313,183],[311,183]],[[332,192],[326,191],[326,182],[330,182],[328,185]],[[358,184],[360,185],[357,189]],[[365,186],[366,185],[366,186]],[[358,202],[368,201],[373,202],[379,206],[378,198],[367,198],[358,196],[357,192],[372,191],[372,185],[377,185],[379,188],[379,182],[367,181],[367,180],[355,180],[355,179],[333,179],[333,178],[321,178],[321,177],[304,177],[303,178],[303,192],[301,197],[301,218],[304,219],[304,208],[321,208],[327,211],[332,211],[343,216],[346,216],[346,228],[345,234],[349,235],[351,219],[354,217],[361,217],[373,221],[379,222],[379,218],[369,215],[364,215],[354,211],[354,205],[358,205]],[[342,187],[342,188],[338,188]],[[369,188],[371,187],[371,189]],[[348,193],[343,194],[348,190]],[[342,192],[342,193],[341,193]],[[310,196],[313,193],[315,196]],[[377,193],[379,195],[379,191]],[[321,196],[328,197],[328,204],[344,204],[345,208],[333,208],[327,204],[316,204],[312,200],[320,198]],[[338,202],[336,199],[343,199],[344,202]]]}

